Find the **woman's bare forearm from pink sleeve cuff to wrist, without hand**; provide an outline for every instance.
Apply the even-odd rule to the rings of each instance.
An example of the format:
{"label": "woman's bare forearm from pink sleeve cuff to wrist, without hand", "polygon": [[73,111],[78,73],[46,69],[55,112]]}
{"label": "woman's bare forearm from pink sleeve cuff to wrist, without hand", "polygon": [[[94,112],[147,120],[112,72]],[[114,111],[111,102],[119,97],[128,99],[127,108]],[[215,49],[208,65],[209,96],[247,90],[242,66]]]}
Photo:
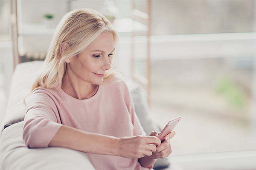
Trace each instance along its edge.
{"label": "woman's bare forearm from pink sleeve cuff to wrist, without hand", "polygon": [[73,127],[61,126],[49,147],[66,147],[87,153],[116,155],[118,138],[89,133]]}

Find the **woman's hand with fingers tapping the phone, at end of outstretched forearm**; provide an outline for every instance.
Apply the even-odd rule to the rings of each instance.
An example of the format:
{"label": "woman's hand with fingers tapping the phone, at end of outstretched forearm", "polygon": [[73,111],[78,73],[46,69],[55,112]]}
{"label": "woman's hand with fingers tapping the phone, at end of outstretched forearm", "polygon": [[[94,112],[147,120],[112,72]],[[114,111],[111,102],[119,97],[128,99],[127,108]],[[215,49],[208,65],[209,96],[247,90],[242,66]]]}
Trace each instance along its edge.
{"label": "woman's hand with fingers tapping the phone, at end of outstretched forearm", "polygon": [[161,144],[156,136],[131,136],[119,139],[118,155],[125,158],[151,156]]}

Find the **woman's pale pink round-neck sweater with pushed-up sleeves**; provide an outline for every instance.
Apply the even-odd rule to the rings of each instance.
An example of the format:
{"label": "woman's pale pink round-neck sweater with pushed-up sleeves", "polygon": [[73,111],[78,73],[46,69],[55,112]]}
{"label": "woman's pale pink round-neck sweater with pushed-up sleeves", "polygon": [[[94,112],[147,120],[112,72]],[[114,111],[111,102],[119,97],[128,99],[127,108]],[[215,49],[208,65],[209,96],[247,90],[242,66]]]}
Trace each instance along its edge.
{"label": "woman's pale pink round-neck sweater with pushed-up sleeves", "polygon": [[[48,147],[62,125],[115,137],[145,135],[121,78],[113,77],[99,85],[89,99],[79,100],[57,89],[36,88],[29,97],[23,127],[27,147]],[[88,157],[96,170],[147,169],[138,159],[91,153]]]}

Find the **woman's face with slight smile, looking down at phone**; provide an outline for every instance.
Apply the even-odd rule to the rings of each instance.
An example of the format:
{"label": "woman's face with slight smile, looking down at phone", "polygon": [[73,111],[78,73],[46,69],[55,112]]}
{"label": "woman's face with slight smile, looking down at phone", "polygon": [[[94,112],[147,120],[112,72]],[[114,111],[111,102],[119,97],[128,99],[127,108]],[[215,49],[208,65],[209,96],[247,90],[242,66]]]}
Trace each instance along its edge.
{"label": "woman's face with slight smile, looking down at phone", "polygon": [[100,34],[78,56],[66,60],[69,77],[79,84],[88,82],[99,85],[103,82],[105,71],[111,68],[114,48],[113,34]]}

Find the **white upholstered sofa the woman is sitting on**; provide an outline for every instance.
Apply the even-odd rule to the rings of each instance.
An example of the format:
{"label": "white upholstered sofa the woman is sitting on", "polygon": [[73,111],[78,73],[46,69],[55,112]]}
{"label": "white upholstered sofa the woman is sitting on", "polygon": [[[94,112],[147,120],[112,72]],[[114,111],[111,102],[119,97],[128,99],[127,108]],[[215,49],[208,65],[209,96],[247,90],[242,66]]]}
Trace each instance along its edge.
{"label": "white upholstered sofa the woman is sitting on", "polygon": [[[30,93],[32,80],[42,65],[42,61],[18,64],[12,77],[9,99],[2,125],[0,127],[0,165],[3,170],[93,170],[87,154],[61,147],[28,149],[22,139],[23,119],[26,107],[24,97]],[[158,131],[150,116],[145,102],[145,95],[138,86],[133,86],[131,94],[135,111],[148,134]],[[160,159],[154,169],[169,166],[168,159]]]}

